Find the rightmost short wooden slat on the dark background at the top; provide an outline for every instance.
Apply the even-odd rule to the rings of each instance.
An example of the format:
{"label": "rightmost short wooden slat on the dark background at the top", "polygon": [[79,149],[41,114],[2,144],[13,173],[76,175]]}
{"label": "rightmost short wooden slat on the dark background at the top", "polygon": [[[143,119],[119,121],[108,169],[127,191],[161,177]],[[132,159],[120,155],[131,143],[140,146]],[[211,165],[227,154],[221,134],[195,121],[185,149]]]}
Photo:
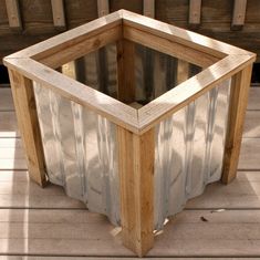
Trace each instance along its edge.
{"label": "rightmost short wooden slat on the dark background at the top", "polygon": [[247,0],[233,1],[232,29],[241,29],[245,23]]}

